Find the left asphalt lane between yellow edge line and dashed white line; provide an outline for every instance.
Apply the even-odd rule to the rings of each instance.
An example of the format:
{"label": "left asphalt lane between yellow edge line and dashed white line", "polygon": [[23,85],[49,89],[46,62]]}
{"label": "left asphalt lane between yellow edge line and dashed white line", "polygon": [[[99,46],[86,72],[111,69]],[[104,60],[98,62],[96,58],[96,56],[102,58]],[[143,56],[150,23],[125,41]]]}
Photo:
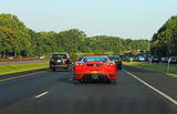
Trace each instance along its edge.
{"label": "left asphalt lane between yellow edge line and dashed white line", "polygon": [[[42,73],[33,72],[31,75],[0,82],[0,110],[22,99],[35,95],[44,89],[58,83],[60,79],[58,74],[59,72],[49,72],[49,70],[44,70]],[[67,74],[65,72],[60,72],[60,75]],[[10,75],[8,75],[8,77]]]}

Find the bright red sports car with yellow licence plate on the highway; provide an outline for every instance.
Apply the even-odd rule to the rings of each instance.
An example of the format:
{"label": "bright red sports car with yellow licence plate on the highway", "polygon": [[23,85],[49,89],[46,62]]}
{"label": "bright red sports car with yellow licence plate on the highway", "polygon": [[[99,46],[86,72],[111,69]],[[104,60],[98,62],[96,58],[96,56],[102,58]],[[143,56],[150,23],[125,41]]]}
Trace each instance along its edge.
{"label": "bright red sports car with yellow licence plate on the highway", "polygon": [[107,56],[84,56],[74,65],[74,83],[106,80],[116,83],[116,64]]}

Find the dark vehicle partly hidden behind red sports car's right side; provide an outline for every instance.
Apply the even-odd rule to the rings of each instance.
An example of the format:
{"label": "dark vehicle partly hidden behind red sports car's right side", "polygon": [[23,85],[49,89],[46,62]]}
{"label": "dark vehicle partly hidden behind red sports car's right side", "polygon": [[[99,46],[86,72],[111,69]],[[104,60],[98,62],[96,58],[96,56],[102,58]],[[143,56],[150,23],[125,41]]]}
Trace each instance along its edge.
{"label": "dark vehicle partly hidden behind red sports car's right side", "polygon": [[107,55],[107,58],[111,61],[115,62],[117,69],[122,70],[122,60],[121,60],[119,55]]}

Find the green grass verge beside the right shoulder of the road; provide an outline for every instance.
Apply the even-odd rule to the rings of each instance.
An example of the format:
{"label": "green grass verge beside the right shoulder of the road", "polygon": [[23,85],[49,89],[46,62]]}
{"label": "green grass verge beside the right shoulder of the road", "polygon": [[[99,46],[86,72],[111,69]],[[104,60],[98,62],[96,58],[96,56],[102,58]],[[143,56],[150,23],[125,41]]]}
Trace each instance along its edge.
{"label": "green grass verge beside the right shoulder of the road", "polygon": [[164,74],[177,77],[177,65],[170,64],[168,69],[168,64],[162,64],[162,63],[143,63],[143,62],[123,62],[125,65],[131,65],[134,68],[147,70],[147,71],[157,71],[162,72]]}

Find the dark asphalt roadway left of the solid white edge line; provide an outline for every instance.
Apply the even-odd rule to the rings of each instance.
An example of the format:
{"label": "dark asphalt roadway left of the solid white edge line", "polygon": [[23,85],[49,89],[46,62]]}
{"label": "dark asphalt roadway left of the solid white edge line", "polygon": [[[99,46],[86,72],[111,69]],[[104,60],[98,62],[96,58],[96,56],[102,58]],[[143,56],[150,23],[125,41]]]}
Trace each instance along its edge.
{"label": "dark asphalt roadway left of the solid white edge line", "polygon": [[[140,72],[124,69],[137,72],[136,75]],[[177,114],[176,104],[126,71],[117,71],[115,85],[103,82],[74,85],[72,72],[48,70],[1,79],[0,114]]]}

